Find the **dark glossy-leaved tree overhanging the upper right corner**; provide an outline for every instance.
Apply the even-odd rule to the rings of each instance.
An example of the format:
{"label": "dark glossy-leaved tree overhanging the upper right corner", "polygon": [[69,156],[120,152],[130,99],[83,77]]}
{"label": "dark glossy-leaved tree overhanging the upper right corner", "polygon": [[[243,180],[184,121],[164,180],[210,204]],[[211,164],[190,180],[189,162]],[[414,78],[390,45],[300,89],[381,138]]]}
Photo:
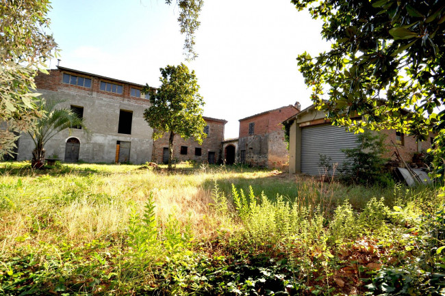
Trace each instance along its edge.
{"label": "dark glossy-leaved tree overhanging the upper right corner", "polygon": [[[335,124],[396,129],[435,138],[436,165],[445,152],[445,5],[442,0],[292,0],[320,18],[331,51],[298,66],[312,100]],[[364,121],[355,122],[359,114]]]}

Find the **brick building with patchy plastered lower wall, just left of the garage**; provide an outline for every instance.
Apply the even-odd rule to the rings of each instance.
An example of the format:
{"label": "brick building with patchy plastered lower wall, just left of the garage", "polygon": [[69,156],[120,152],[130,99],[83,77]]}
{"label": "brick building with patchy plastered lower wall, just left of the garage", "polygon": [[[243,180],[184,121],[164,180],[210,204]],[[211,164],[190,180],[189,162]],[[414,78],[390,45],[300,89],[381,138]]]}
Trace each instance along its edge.
{"label": "brick building with patchy plastered lower wall, just left of the garage", "polygon": [[286,167],[289,153],[281,122],[299,110],[297,102],[240,119],[238,162],[268,168]]}

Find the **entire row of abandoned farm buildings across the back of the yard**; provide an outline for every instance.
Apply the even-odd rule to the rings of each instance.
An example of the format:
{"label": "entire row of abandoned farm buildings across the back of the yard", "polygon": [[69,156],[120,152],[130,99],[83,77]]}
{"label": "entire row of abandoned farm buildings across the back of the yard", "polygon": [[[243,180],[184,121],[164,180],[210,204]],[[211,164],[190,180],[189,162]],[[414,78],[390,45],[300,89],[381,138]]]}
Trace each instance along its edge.
{"label": "entire row of abandoned farm buildings across the back of the yard", "polygon": [[[47,158],[96,163],[168,161],[168,136],[153,141],[153,129],[144,120],[150,101],[141,93],[143,85],[62,66],[49,70],[49,75],[38,75],[36,85],[43,98],[73,110],[90,129],[89,135],[76,128],[55,135],[44,147]],[[203,118],[207,123],[203,144],[175,136],[173,157],[178,162],[246,163],[318,175],[320,154],[342,165],[342,149],[357,146],[357,135],[332,126],[314,105],[301,111],[298,102],[240,119],[239,137],[235,139],[224,138],[226,120]],[[290,124],[289,149],[283,122]],[[414,153],[431,147],[430,141],[418,142],[394,130],[379,133],[387,136],[387,158],[392,157],[394,144],[406,162]],[[33,140],[23,134],[18,140],[17,159],[31,159],[33,149]]]}

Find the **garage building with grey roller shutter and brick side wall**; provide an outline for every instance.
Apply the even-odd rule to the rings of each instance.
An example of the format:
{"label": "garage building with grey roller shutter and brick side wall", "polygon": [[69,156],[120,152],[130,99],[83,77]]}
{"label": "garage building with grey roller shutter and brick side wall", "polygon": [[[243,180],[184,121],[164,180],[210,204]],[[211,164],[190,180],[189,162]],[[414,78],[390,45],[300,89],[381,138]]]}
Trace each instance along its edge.
{"label": "garage building with grey roller shutter and brick side wall", "polygon": [[[357,120],[360,118],[358,117]],[[331,163],[342,165],[346,160],[342,149],[355,148],[357,135],[348,133],[343,126],[333,126],[327,120],[326,113],[315,109],[314,105],[286,120],[291,123],[289,142],[289,172],[303,172],[310,175],[325,174],[318,165],[320,155],[331,158]],[[392,158],[397,147],[403,160],[412,161],[415,152],[431,147],[431,138],[427,142],[417,142],[415,137],[403,135],[395,130],[383,130],[374,133],[386,135],[385,158]],[[392,142],[394,144],[392,144]],[[333,172],[330,172],[331,174]]]}

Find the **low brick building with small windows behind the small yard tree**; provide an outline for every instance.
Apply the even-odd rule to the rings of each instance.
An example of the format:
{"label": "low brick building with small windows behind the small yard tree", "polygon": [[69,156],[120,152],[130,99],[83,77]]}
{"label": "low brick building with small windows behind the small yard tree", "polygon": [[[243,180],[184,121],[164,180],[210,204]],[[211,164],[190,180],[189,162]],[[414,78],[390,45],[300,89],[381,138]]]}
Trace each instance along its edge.
{"label": "low brick building with small windows behind the small yard tree", "polygon": [[[209,118],[203,116],[207,126],[205,133],[207,137],[203,139],[203,144],[199,145],[193,139],[183,139],[175,135],[173,139],[173,158],[177,161],[196,161],[199,163],[220,163],[222,162],[222,148],[224,141],[224,126],[226,120]],[[153,142],[152,161],[156,163],[168,163],[168,134]]]}

